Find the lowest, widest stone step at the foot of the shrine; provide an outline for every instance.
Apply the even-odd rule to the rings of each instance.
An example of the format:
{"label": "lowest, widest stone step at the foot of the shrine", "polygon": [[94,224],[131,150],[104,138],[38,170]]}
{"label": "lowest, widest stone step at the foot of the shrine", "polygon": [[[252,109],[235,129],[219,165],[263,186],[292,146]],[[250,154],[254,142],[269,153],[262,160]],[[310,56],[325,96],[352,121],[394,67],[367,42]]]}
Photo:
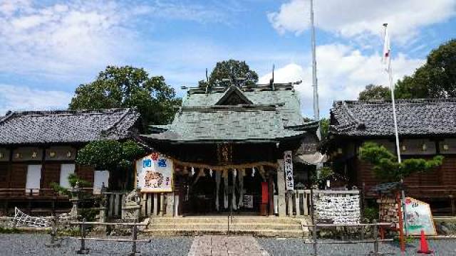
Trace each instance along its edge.
{"label": "lowest, widest stone step at the foot of the shrine", "polygon": [[[170,228],[163,230],[144,230],[145,235],[155,236],[174,236],[174,235],[227,235],[227,230],[189,230],[185,228]],[[303,238],[307,237],[309,233],[303,233],[302,230],[237,230],[230,229],[230,235],[254,235],[257,237],[277,237],[277,238]]]}

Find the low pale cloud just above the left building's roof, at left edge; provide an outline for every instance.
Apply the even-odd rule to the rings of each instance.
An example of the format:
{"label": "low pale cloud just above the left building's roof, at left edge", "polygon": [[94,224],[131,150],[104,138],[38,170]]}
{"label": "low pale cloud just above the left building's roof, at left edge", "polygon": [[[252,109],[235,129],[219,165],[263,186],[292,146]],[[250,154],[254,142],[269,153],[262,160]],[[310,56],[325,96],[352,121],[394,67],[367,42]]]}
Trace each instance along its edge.
{"label": "low pale cloud just above the left building's roof, at left edge", "polygon": [[0,84],[0,116],[7,110],[66,109],[71,96],[68,92]]}

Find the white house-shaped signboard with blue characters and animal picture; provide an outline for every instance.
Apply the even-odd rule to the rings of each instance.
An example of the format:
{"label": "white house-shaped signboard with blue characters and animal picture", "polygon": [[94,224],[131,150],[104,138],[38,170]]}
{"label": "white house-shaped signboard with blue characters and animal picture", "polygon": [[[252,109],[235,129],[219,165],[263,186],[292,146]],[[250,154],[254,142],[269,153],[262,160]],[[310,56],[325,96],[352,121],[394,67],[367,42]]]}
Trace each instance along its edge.
{"label": "white house-shaped signboard with blue characters and animal picture", "polygon": [[171,159],[152,153],[136,161],[136,187],[142,193],[172,192],[173,173]]}

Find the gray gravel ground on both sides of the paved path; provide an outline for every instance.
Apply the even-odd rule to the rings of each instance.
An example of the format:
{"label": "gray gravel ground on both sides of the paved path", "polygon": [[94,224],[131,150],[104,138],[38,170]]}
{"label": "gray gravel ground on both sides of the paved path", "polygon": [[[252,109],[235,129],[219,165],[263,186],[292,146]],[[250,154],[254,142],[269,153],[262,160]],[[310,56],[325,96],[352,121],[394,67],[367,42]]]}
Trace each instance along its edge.
{"label": "gray gravel ground on both sides of the paved path", "polygon": [[[46,248],[44,245],[49,241],[49,235],[34,234],[0,234],[0,255],[76,255],[79,241],[65,239],[60,248]],[[187,255],[192,245],[193,238],[170,237],[151,238],[150,243],[139,243],[138,250],[142,255]],[[259,245],[270,255],[298,256],[311,255],[313,245],[304,244],[301,239],[276,239],[257,238]],[[435,255],[456,255],[456,240],[428,240],[430,250]],[[418,240],[408,245],[405,255],[417,255]],[[90,255],[128,255],[131,249],[130,242],[95,242],[88,241]],[[318,245],[318,255],[348,256],[367,255],[373,250],[373,244],[358,245]],[[397,243],[388,242],[380,245],[380,252],[385,255],[400,255]]]}

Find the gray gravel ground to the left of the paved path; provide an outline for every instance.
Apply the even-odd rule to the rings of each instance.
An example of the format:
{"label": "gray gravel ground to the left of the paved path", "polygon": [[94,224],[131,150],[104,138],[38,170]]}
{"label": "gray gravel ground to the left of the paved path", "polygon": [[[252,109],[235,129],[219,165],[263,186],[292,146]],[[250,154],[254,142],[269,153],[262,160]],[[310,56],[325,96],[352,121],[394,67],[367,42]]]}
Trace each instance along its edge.
{"label": "gray gravel ground to the left of the paved path", "polygon": [[[0,255],[77,255],[79,240],[64,239],[60,248],[47,248],[44,245],[49,242],[49,238],[49,235],[0,234]],[[152,238],[150,243],[138,243],[138,251],[145,256],[187,255],[192,240],[193,238],[187,237]],[[131,242],[88,241],[86,247],[90,248],[90,255],[128,255]]]}

